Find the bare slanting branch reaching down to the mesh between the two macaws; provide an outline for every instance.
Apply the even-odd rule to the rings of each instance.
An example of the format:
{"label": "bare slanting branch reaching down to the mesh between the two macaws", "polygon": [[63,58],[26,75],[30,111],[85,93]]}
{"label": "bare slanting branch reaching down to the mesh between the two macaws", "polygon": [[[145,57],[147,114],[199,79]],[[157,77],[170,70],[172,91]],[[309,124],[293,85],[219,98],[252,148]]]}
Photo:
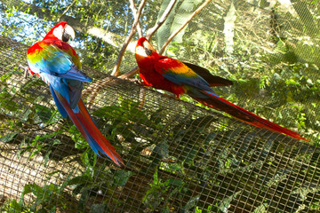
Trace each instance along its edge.
{"label": "bare slanting branch reaching down to the mesh between the two macaws", "polygon": [[[129,1],[132,4],[133,0],[129,0]],[[113,76],[118,76],[120,74],[119,67],[120,67],[121,61],[124,57],[124,51],[126,50],[126,47],[128,46],[128,44],[132,40],[132,36],[134,36],[134,34],[136,33],[136,30],[137,30],[136,27],[139,23],[140,15],[141,15],[142,9],[143,9],[144,5],[146,4],[146,2],[147,2],[147,0],[142,0],[142,2],[139,5],[138,12],[136,14],[133,14],[134,15],[134,22],[132,24],[131,32],[130,32],[129,36],[127,36],[125,38],[124,45],[121,48],[121,51],[119,52],[118,58],[116,59],[116,65],[111,73],[111,75],[113,75]]]}

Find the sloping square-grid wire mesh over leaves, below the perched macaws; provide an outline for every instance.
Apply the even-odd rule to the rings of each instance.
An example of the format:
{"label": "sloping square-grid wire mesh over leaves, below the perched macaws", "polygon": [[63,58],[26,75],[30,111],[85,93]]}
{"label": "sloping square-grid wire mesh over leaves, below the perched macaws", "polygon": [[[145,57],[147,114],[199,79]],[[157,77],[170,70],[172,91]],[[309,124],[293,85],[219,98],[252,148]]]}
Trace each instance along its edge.
{"label": "sloping square-grid wire mesh over leaves, below the perched macaws", "polygon": [[24,78],[27,49],[0,37],[0,210],[319,209],[315,146],[114,77],[89,111],[125,167],[97,157],[61,119],[48,87],[36,76]]}

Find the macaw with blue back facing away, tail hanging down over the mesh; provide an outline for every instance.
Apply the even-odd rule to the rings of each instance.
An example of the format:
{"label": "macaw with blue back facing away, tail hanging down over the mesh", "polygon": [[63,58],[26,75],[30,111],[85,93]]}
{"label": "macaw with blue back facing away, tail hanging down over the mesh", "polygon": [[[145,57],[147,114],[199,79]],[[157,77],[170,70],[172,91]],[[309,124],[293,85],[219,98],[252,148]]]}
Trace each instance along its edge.
{"label": "macaw with blue back facing away, tail hanging down over the mesh", "polygon": [[92,79],[81,71],[80,59],[67,43],[70,37],[75,37],[75,31],[67,22],[54,26],[41,42],[28,49],[28,69],[49,85],[62,117],[68,116],[74,122],[96,154],[107,155],[117,165],[124,164],[114,146],[95,126],[81,99],[83,83]]}

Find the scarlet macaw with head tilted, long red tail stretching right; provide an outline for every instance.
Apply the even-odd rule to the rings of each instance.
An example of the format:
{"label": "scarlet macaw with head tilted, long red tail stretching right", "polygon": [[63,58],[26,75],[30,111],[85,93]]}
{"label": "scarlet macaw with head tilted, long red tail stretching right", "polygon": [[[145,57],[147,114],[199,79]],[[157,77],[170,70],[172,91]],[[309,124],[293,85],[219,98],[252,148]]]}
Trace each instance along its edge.
{"label": "scarlet macaw with head tilted, long red tail stretching right", "polygon": [[140,77],[146,86],[170,91],[177,98],[182,94],[188,94],[205,106],[226,112],[253,126],[280,132],[292,138],[307,140],[292,130],[269,122],[226,99],[220,98],[211,87],[231,85],[231,81],[211,75],[203,67],[159,55],[145,37],[138,40],[135,57],[140,69]]}

